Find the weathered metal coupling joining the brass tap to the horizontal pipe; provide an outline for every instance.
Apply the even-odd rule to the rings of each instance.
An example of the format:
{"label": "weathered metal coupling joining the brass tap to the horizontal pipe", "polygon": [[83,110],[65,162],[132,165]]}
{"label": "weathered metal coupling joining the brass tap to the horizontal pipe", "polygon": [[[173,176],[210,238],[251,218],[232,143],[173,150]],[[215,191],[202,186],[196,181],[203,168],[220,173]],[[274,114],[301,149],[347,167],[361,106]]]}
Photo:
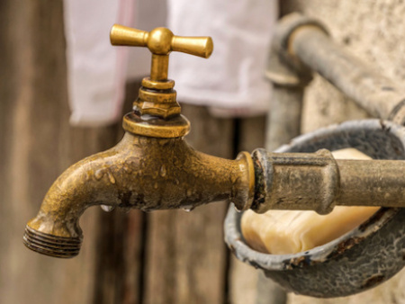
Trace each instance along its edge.
{"label": "weathered metal coupling joining the brass tap to the horizontal pipe", "polygon": [[316,210],[320,214],[333,210],[339,170],[329,150],[280,154],[260,148],[252,157],[256,171],[252,210]]}

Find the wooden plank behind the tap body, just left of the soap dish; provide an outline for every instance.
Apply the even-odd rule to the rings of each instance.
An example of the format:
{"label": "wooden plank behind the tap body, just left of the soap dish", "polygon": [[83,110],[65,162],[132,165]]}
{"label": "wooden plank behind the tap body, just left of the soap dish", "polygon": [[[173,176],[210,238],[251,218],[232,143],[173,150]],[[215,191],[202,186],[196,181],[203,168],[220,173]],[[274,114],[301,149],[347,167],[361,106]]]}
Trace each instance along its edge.
{"label": "wooden plank behind the tap body, just left of the soap dish", "polygon": [[[203,108],[183,106],[192,123],[187,140],[215,156],[232,156],[233,121],[211,117]],[[148,214],[145,303],[222,303],[227,251],[223,242],[225,202]]]}

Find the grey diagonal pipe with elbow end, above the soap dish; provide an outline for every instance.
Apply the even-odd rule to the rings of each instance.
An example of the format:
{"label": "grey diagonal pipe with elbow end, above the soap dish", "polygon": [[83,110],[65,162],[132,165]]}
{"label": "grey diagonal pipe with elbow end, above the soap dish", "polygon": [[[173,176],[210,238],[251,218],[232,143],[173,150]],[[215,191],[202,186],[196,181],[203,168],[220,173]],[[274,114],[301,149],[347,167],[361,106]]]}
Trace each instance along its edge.
{"label": "grey diagonal pipe with elbow end, above the soap dish", "polygon": [[298,13],[278,24],[278,45],[292,66],[318,72],[374,117],[405,124],[405,90],[329,38],[325,27]]}

